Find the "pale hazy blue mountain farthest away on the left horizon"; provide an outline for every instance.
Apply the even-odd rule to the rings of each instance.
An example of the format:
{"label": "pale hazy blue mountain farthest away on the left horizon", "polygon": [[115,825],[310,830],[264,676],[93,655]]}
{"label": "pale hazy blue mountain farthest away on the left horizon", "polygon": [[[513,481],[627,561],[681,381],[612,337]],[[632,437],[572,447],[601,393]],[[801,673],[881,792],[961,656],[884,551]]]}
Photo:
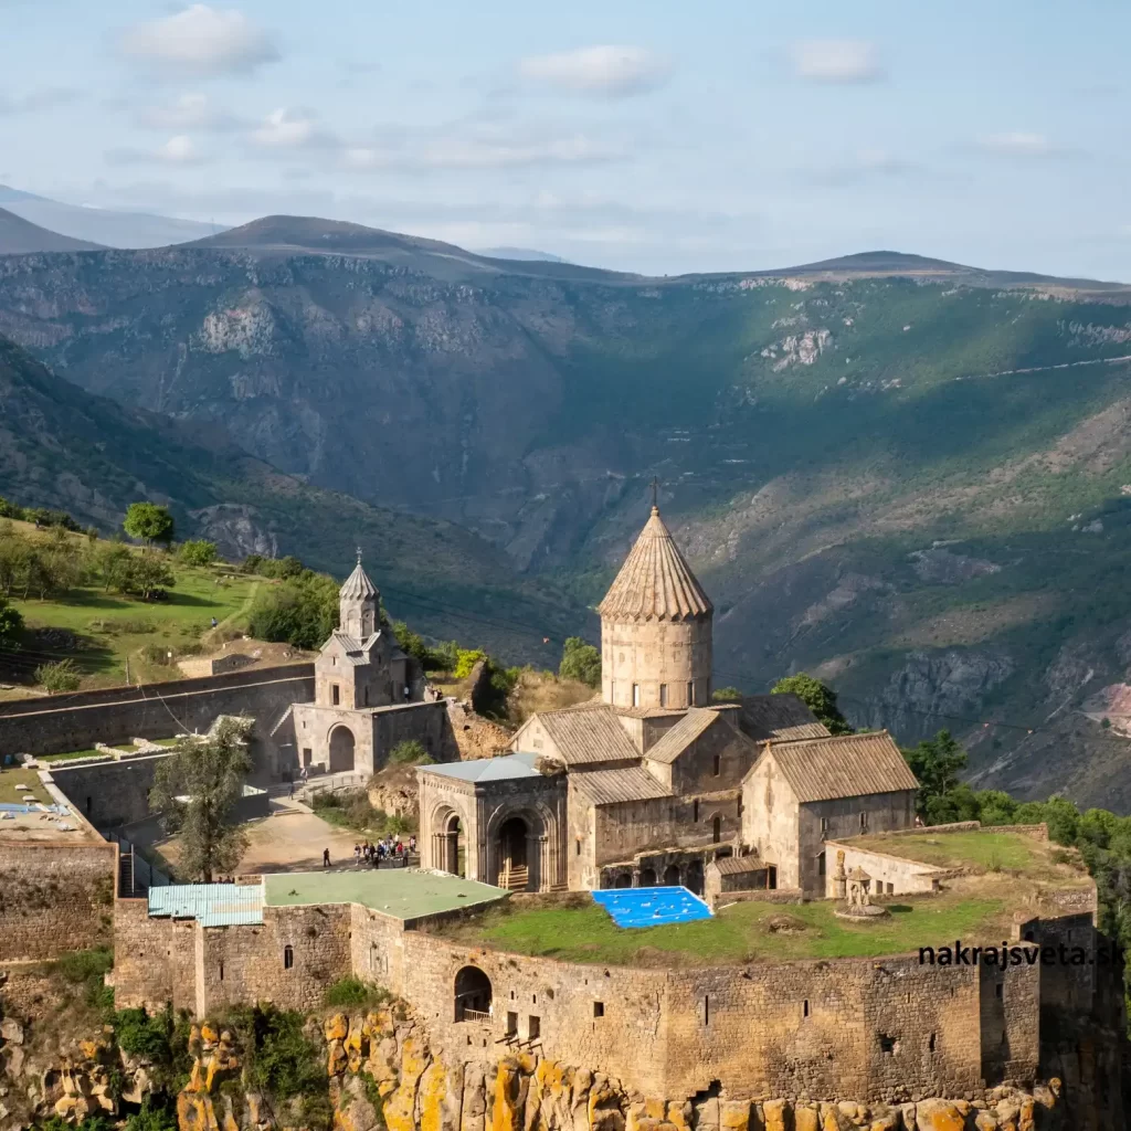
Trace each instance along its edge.
{"label": "pale hazy blue mountain farthest away on the left horizon", "polygon": [[[0,208],[46,228],[50,234],[70,236],[85,243],[106,248],[164,248],[213,235],[215,224],[192,219],[174,219],[148,213],[118,211],[109,208],[86,208],[0,184]],[[0,254],[10,254],[0,232]],[[35,251],[79,251],[80,248],[41,247]]]}

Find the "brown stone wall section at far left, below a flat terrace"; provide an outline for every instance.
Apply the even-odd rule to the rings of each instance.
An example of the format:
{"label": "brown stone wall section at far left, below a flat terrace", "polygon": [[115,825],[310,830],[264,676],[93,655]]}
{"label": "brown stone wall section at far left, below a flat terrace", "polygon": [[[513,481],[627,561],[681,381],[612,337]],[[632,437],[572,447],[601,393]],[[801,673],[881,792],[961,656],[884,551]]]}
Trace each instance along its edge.
{"label": "brown stone wall section at far left, below a flat terrace", "polygon": [[118,846],[0,840],[0,961],[105,943]]}

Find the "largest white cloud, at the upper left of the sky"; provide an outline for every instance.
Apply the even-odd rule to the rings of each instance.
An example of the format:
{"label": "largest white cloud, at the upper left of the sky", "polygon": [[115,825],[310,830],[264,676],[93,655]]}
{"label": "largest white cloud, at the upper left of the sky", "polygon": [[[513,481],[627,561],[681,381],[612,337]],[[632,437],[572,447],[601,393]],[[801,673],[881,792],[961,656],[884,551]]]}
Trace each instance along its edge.
{"label": "largest white cloud, at the upper left of the sky", "polygon": [[136,25],[122,37],[122,50],[161,68],[199,75],[247,72],[279,57],[267,32],[243,12],[206,3]]}

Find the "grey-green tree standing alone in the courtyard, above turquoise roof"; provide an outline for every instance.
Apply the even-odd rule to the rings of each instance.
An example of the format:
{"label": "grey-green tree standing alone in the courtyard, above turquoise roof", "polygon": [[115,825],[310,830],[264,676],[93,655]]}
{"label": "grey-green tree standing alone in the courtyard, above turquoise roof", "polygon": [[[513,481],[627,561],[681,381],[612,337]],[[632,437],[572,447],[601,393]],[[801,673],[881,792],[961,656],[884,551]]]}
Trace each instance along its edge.
{"label": "grey-green tree standing alone in the courtyard, above turquoise roof", "polygon": [[222,719],[207,741],[179,746],[154,775],[149,809],[179,829],[180,870],[206,883],[235,871],[248,846],[243,830],[232,822],[251,771],[243,731],[239,720]]}

